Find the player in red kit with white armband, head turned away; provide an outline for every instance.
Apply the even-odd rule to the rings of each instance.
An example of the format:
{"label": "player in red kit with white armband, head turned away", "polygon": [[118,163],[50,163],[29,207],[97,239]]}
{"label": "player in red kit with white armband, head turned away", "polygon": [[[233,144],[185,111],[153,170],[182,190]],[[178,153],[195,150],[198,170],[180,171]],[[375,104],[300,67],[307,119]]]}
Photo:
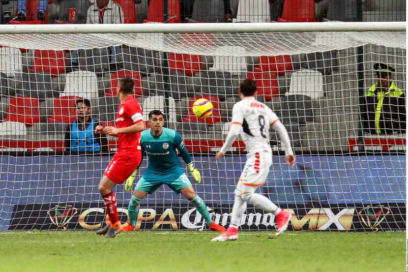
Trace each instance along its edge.
{"label": "player in red kit with white armband, head turned away", "polygon": [[121,223],[117,214],[117,200],[112,187],[121,184],[133,173],[142,161],[140,134],[145,129],[142,109],[133,97],[134,83],[129,77],[121,78],[117,85],[117,97],[120,100],[116,116],[116,127],[97,126],[96,133],[105,133],[117,137],[118,148],[99,182],[99,192],[103,197],[109,224],[96,234],[114,238],[120,231]]}

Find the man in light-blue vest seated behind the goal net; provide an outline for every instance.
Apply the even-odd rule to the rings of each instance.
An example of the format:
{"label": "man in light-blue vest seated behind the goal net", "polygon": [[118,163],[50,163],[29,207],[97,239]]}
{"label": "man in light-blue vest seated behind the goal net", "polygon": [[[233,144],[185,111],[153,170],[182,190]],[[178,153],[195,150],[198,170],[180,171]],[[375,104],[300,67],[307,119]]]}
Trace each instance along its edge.
{"label": "man in light-blue vest seated behind the goal net", "polygon": [[76,101],[78,119],[67,125],[65,132],[66,151],[108,151],[105,134],[95,134],[97,119],[91,117],[88,99]]}

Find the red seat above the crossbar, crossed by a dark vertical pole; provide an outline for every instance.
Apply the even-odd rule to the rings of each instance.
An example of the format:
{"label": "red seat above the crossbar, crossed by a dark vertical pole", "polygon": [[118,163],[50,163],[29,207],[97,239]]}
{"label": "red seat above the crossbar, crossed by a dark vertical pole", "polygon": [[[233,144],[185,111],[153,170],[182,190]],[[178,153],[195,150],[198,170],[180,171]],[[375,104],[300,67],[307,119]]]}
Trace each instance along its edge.
{"label": "red seat above the crossbar, crossed by a dark vertical pole", "polygon": [[[149,22],[163,22],[163,0],[150,0],[147,10],[147,19],[143,20],[144,23]],[[168,0],[168,16],[169,19],[166,23],[180,23],[180,3],[178,0]]]}

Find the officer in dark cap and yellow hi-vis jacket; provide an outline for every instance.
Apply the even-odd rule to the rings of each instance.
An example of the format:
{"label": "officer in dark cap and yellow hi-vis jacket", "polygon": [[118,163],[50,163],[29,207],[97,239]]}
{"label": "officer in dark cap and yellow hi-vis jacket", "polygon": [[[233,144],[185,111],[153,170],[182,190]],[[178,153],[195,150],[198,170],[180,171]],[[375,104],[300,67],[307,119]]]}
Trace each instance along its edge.
{"label": "officer in dark cap and yellow hi-vis jacket", "polygon": [[372,134],[402,133],[406,130],[405,93],[392,80],[395,69],[376,63],[374,70],[377,82],[364,97],[364,130]]}

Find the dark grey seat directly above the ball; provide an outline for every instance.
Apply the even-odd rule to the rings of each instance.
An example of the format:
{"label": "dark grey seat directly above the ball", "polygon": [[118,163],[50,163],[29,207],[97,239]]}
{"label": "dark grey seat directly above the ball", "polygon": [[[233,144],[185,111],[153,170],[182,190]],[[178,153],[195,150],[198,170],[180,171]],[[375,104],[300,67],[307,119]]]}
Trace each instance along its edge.
{"label": "dark grey seat directly above the ball", "polygon": [[193,78],[194,93],[217,95],[221,101],[233,92],[232,76],[225,71],[203,71]]}

